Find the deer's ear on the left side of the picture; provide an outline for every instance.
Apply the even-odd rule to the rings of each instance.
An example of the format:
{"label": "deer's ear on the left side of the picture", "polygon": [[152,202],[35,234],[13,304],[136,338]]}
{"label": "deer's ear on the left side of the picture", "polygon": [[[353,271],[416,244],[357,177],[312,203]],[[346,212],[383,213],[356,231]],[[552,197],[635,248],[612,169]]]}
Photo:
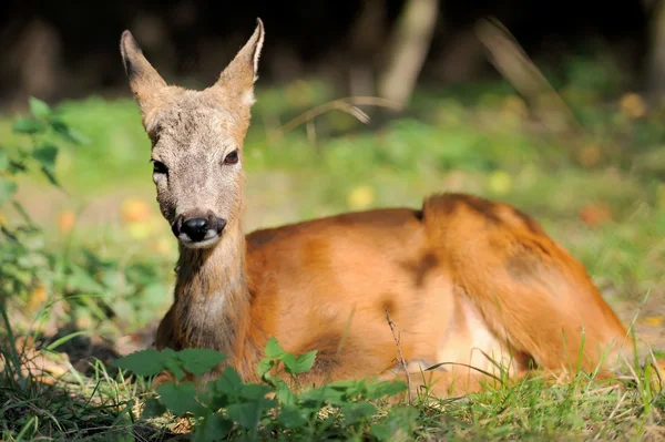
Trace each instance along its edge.
{"label": "deer's ear on the left side of the picture", "polygon": [[130,80],[130,88],[145,117],[156,106],[161,92],[166,88],[166,82],[143,55],[141,47],[130,31],[122,33],[120,53]]}

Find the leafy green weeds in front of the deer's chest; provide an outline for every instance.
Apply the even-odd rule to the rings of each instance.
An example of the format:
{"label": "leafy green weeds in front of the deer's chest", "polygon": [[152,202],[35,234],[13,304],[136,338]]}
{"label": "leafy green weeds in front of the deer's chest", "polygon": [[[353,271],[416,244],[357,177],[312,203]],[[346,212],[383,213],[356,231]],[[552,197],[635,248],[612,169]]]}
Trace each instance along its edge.
{"label": "leafy green weeds in front of the deer's chest", "polygon": [[[185,373],[200,377],[222,363],[224,354],[206,349],[143,350],[114,363],[139,376],[151,377],[166,370],[174,381],[157,387],[158,397],[146,401],[142,417],[165,412],[191,417],[194,441],[231,435],[245,440],[324,440],[341,434],[350,440],[371,436],[385,441],[398,431],[413,431],[416,409],[397,407],[377,417],[379,410],[372,403],[403,391],[403,382],[338,381],[306,389],[298,386],[298,376],[311,369],[316,351],[296,357],[273,338],[265,354],[258,364],[264,382],[243,382],[227,364],[202,389],[196,387],[200,378],[184,380]],[[278,364],[284,366],[295,388],[270,373]]]}

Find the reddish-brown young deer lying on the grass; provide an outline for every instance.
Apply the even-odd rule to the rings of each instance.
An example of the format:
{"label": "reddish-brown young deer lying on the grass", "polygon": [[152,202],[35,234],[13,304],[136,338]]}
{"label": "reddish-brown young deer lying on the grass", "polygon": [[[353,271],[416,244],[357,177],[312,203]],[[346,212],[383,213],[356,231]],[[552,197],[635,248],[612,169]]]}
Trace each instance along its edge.
{"label": "reddish-brown young deer lying on the grass", "polygon": [[[245,236],[243,140],[264,42],[257,28],[218,81],[167,84],[129,31],[121,53],[152,141],[153,181],[180,243],[174,302],[157,349],[228,356],[247,381],[270,337],[296,354],[318,350],[305,379],[390,379],[399,373],[387,312],[415,387],[483,388],[494,362],[513,378],[546,370],[608,376],[626,329],[583,266],[518,209],[463,194],[420,209],[348,213]],[[625,342],[624,342],[625,341]],[[214,373],[213,373],[214,374]]]}

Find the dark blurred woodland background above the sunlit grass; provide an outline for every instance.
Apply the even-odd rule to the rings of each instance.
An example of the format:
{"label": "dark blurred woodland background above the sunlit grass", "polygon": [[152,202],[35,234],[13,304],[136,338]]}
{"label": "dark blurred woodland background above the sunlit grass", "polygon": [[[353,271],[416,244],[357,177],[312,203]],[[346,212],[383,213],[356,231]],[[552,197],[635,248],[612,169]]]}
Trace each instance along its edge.
{"label": "dark blurred woodland background above the sunlit grass", "polygon": [[[495,75],[473,33],[478,19],[494,16],[539,66],[565,70],[572,54],[606,41],[626,74],[648,74],[662,89],[662,2],[621,0],[608,8],[602,0],[0,1],[0,109],[24,106],[30,94],[48,102],[125,95],[117,39],[127,28],[165,76],[207,85],[256,17],[268,32],[262,86],[307,78],[334,85],[338,94],[408,102],[416,82],[441,88]],[[651,73],[643,63],[652,47],[647,22]]]}

